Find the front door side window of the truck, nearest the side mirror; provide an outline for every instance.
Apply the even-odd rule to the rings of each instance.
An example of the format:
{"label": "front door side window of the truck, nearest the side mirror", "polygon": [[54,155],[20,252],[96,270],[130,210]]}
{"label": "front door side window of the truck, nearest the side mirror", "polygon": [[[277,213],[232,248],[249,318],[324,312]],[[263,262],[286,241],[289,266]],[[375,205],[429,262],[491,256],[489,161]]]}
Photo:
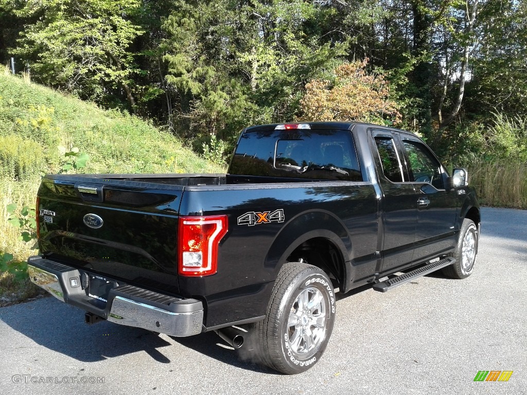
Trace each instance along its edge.
{"label": "front door side window of the truck, nearest the side mirror", "polygon": [[425,145],[413,140],[403,140],[403,145],[409,160],[410,181],[427,182],[437,189],[444,189],[441,164],[435,159],[430,150]]}

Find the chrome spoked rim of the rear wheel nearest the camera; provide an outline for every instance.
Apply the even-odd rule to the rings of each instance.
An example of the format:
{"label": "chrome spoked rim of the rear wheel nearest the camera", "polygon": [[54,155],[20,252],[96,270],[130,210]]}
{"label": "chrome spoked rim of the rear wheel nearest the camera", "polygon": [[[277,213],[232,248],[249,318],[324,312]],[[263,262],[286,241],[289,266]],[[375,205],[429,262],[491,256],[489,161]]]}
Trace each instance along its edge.
{"label": "chrome spoked rim of the rear wheel nearest the camera", "polygon": [[308,358],[326,337],[327,305],[324,294],[314,287],[300,292],[291,306],[287,324],[289,349]]}

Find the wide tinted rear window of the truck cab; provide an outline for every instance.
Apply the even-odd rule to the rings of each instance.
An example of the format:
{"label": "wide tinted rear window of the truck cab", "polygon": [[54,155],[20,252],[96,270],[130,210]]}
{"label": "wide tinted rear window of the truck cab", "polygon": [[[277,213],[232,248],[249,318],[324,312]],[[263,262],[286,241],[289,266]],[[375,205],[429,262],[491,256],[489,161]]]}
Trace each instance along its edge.
{"label": "wide tinted rear window of the truck cab", "polygon": [[353,136],[343,130],[245,133],[229,173],[362,181]]}

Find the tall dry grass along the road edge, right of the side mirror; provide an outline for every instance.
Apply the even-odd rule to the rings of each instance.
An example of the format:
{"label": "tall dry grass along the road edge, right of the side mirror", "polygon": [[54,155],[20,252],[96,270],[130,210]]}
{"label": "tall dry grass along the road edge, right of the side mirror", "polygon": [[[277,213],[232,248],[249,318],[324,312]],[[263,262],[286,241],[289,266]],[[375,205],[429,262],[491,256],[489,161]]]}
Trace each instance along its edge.
{"label": "tall dry grass along the road edge, right of the side mirror", "polygon": [[527,209],[527,163],[519,160],[475,160],[469,182],[485,205]]}

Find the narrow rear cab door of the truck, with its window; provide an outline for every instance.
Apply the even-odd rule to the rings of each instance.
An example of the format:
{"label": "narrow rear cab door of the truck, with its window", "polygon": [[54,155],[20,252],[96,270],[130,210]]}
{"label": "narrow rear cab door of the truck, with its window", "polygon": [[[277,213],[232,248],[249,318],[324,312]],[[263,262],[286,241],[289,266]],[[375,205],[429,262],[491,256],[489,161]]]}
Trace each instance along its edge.
{"label": "narrow rear cab door of the truck, with its window", "polygon": [[417,223],[417,192],[409,181],[404,156],[395,134],[373,130],[377,174],[383,198],[380,205],[382,271],[412,262]]}

